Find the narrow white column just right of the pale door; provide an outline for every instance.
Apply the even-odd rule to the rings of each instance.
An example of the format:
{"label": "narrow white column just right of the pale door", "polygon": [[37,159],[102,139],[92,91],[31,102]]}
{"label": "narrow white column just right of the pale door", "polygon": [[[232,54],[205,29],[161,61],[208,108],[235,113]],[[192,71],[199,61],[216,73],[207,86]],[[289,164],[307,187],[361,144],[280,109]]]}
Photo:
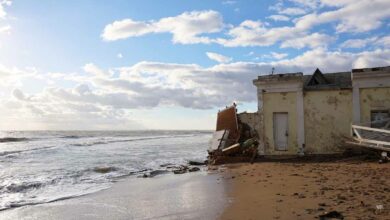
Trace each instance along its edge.
{"label": "narrow white column just right of the pale door", "polygon": [[303,145],[305,144],[305,113],[302,89],[297,91],[297,143],[298,153],[303,155]]}

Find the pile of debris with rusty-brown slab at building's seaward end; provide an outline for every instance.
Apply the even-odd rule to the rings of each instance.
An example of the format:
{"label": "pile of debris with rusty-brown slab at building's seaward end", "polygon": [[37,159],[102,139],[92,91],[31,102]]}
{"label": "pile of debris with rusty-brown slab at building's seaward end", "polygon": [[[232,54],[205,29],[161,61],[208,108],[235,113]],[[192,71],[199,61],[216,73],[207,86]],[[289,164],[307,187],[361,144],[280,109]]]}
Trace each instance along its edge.
{"label": "pile of debris with rusty-brown slab at building's seaward end", "polygon": [[240,122],[236,105],[218,112],[217,127],[208,149],[211,165],[253,162],[257,156],[258,141],[251,128]]}

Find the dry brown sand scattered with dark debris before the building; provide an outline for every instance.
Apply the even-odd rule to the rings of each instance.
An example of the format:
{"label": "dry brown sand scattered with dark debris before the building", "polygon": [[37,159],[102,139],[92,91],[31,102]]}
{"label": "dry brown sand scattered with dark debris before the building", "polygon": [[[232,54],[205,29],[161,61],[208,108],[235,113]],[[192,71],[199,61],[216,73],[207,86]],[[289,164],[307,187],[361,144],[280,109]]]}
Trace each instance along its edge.
{"label": "dry brown sand scattered with dark debris before the building", "polygon": [[[232,203],[221,219],[390,219],[390,163],[260,162],[221,169]],[[380,206],[382,205],[383,209]]]}

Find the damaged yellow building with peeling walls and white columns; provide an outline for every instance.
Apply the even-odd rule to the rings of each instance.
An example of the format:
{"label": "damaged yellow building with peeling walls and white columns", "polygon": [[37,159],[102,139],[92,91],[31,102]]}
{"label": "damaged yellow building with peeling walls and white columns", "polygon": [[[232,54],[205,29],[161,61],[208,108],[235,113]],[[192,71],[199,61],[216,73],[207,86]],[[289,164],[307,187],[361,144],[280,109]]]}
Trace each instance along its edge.
{"label": "damaged yellow building with peeling walls and white columns", "polygon": [[258,112],[238,115],[256,132],[260,155],[340,153],[351,125],[390,118],[390,67],[312,75],[262,75]]}

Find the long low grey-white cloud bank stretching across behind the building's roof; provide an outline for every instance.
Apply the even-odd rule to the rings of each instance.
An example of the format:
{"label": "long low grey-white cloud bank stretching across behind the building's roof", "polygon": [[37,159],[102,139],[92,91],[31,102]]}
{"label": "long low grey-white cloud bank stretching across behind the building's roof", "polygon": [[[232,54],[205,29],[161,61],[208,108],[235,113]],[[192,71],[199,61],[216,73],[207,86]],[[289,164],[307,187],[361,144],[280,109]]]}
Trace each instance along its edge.
{"label": "long low grey-white cloud bank stretching across behind the building's roof", "polygon": [[[278,60],[224,63],[211,67],[143,61],[128,67],[102,70],[94,64],[86,64],[84,69],[90,75],[79,74],[86,77],[85,82],[73,88],[61,88],[61,84],[56,84],[41,92],[27,94],[19,87],[11,89],[9,97],[0,96],[1,128],[12,127],[12,121],[28,121],[29,126],[43,126],[42,129],[58,129],[59,126],[91,128],[91,124],[93,128],[102,129],[110,128],[107,126],[112,124],[118,129],[125,125],[136,128],[137,121],[129,115],[132,109],[141,111],[164,106],[210,109],[232,101],[254,102],[256,91],[252,80],[258,75],[269,74],[272,67],[278,73],[312,73],[317,67],[331,72],[390,65],[389,49],[349,53],[316,48],[291,59],[286,59],[283,53],[271,55]],[[14,72],[20,72],[16,70]],[[114,71],[116,74],[105,74]],[[52,78],[55,81],[72,76],[36,74],[43,75],[41,80]],[[20,74],[7,71],[0,76],[13,79]]]}

